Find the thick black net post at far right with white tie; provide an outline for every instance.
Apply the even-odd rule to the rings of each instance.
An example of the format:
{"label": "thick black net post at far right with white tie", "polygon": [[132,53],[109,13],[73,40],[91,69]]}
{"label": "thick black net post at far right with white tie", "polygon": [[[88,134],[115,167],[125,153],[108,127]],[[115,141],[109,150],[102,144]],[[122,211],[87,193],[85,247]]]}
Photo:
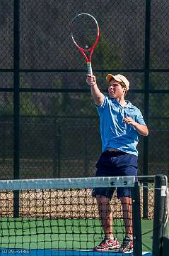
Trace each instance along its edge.
{"label": "thick black net post at far right with white tie", "polygon": [[163,222],[165,216],[166,179],[164,175],[155,177],[153,208],[153,256],[162,255]]}

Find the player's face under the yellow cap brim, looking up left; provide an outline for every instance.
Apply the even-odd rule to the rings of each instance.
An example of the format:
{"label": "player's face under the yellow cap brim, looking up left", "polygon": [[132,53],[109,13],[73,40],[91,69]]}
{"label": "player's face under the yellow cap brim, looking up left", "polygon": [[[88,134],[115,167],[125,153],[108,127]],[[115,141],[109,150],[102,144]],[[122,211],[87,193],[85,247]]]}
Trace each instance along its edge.
{"label": "player's face under the yellow cap brim, looking up left", "polygon": [[116,80],[111,80],[108,87],[108,93],[110,97],[113,97],[115,99],[120,98],[125,94],[124,88],[122,88],[120,82],[117,82]]}

